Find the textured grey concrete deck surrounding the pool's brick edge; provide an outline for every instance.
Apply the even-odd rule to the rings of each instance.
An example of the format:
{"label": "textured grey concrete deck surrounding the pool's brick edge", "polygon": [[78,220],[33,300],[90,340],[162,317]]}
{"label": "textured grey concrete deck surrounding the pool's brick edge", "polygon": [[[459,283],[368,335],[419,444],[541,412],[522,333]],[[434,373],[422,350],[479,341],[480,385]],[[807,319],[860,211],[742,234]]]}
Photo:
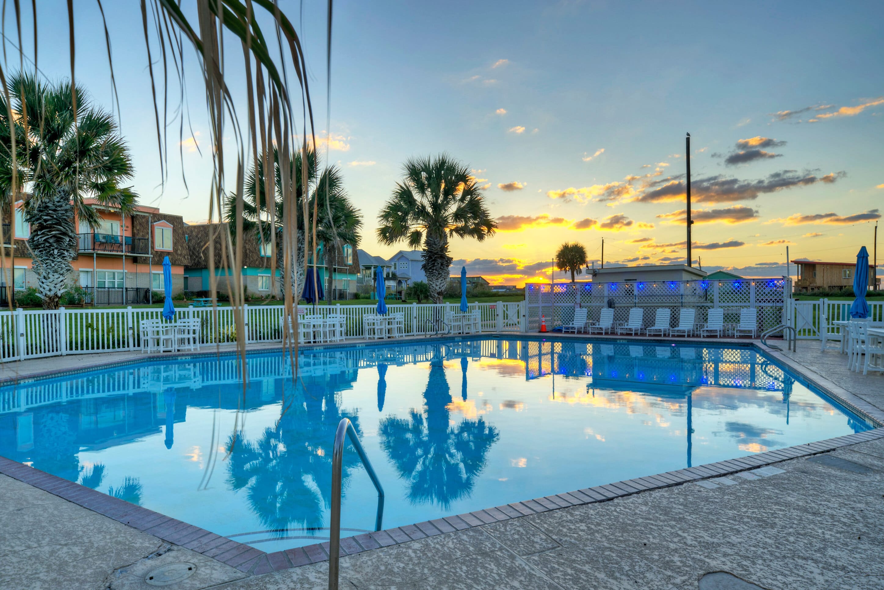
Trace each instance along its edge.
{"label": "textured grey concrete deck surrounding the pool's brick edge", "polygon": [[[799,341],[797,355],[772,356],[798,362],[808,379],[855,395],[869,413],[884,410],[884,377],[847,371],[845,357],[820,352],[818,342]],[[79,358],[71,368],[83,366]],[[42,371],[64,370],[58,360],[42,359]],[[19,376],[41,372],[27,369]],[[745,470],[345,556],[340,587],[682,589],[697,588],[707,573],[729,571],[772,590],[884,588],[884,440],[877,436],[777,462],[773,470]],[[148,588],[149,571],[179,562],[193,563],[197,573],[167,587],[326,586],[327,562],[247,577],[17,479],[0,476],[0,498],[0,588]],[[700,587],[715,587],[710,580]]]}

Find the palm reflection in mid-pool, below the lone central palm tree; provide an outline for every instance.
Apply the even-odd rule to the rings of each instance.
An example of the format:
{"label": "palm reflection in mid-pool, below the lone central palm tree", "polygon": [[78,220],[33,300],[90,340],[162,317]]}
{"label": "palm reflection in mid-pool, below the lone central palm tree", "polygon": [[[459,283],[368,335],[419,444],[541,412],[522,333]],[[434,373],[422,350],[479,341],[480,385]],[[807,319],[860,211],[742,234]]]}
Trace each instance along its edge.
{"label": "palm reflection in mid-pool, below the lone central palm tree", "polygon": [[[382,419],[380,439],[400,477],[408,480],[408,500],[415,504],[438,502],[448,509],[451,502],[472,492],[499,433],[482,417],[449,425],[452,397],[439,350],[436,352],[423,391],[426,413],[411,410],[408,419]],[[465,386],[466,375],[464,394]]]}

